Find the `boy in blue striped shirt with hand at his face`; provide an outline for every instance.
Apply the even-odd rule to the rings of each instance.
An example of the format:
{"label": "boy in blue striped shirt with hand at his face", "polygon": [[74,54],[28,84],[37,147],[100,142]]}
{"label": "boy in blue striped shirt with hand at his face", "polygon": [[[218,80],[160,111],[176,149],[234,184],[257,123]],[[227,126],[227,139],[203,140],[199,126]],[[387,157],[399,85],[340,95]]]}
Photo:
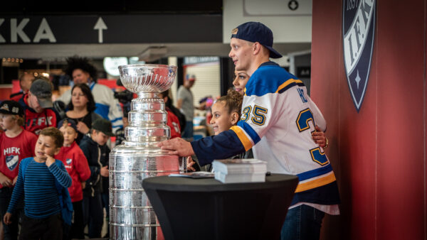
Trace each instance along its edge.
{"label": "boy in blue striped shirt with hand at his face", "polygon": [[[25,203],[20,239],[62,239],[62,205],[58,185],[71,186],[71,178],[60,160],[53,156],[63,145],[62,133],[53,127],[43,129],[38,136],[33,158],[19,164],[18,180],[11,202],[4,215],[4,223],[11,224],[16,204],[23,197]],[[68,190],[65,189],[68,194]]]}

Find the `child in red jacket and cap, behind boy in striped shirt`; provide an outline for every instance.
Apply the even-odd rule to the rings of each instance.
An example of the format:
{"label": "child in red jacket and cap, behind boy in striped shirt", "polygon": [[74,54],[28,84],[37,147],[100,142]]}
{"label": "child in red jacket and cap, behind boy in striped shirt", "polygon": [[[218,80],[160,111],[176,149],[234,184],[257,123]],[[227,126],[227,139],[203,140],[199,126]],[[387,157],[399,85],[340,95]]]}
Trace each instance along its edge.
{"label": "child in red jacket and cap, behind boy in striped shirt", "polygon": [[58,126],[64,136],[64,145],[60,148],[60,152],[55,158],[63,162],[72,179],[68,192],[70,192],[74,209],[74,222],[71,225],[71,231],[64,231],[64,239],[84,239],[83,185],[90,177],[90,168],[85,154],[75,142],[75,138],[78,136],[75,121],[73,119],[63,119]]}

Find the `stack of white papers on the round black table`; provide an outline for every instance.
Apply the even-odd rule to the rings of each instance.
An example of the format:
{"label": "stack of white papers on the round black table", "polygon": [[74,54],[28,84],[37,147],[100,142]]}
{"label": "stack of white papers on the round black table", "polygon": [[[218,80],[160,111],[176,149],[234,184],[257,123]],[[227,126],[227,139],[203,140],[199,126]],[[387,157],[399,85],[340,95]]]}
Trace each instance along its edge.
{"label": "stack of white papers on the round black table", "polygon": [[223,183],[265,182],[267,163],[258,159],[214,160],[215,179]]}

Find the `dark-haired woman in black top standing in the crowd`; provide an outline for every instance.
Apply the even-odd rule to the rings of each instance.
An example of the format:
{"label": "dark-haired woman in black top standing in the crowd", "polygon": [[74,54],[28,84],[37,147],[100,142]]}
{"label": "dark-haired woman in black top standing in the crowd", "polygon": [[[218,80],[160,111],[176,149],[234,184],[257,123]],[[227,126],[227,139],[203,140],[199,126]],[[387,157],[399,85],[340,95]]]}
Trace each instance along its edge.
{"label": "dark-haired woman in black top standing in the crowd", "polygon": [[71,101],[65,115],[77,123],[78,136],[75,141],[80,145],[80,140],[89,133],[93,121],[102,118],[95,112],[95,100],[87,84],[78,83],[71,89]]}

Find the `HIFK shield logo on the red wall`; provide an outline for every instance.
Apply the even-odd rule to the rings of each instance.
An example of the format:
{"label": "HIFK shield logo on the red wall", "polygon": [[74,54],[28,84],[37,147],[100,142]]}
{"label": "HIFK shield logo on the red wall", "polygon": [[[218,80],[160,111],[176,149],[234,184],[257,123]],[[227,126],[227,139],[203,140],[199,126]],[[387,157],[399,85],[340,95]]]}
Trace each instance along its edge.
{"label": "HIFK shield logo on the red wall", "polygon": [[344,65],[354,107],[359,112],[371,69],[375,30],[375,0],[343,1]]}

